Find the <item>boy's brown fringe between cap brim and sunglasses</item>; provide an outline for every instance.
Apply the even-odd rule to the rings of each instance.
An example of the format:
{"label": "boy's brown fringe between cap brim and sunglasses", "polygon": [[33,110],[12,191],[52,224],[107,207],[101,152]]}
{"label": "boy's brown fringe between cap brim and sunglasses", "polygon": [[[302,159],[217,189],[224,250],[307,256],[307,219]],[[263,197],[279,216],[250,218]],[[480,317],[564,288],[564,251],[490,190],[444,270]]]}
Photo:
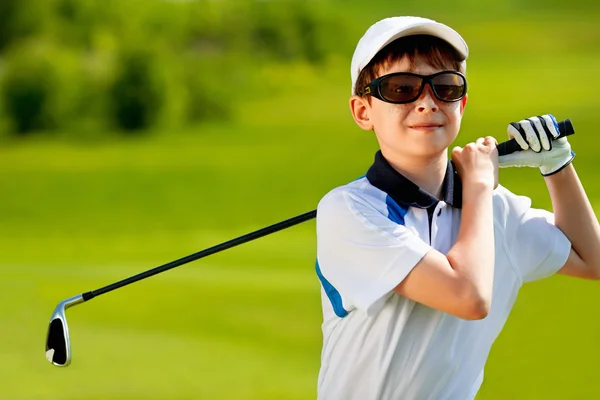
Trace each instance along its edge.
{"label": "boy's brown fringe between cap brim and sunglasses", "polygon": [[422,57],[434,68],[465,72],[465,64],[461,61],[460,55],[448,42],[430,35],[405,36],[381,49],[360,71],[354,86],[354,94],[362,96],[365,86],[376,79],[382,69],[389,68],[404,57],[408,57],[410,68],[414,68],[416,56]]}

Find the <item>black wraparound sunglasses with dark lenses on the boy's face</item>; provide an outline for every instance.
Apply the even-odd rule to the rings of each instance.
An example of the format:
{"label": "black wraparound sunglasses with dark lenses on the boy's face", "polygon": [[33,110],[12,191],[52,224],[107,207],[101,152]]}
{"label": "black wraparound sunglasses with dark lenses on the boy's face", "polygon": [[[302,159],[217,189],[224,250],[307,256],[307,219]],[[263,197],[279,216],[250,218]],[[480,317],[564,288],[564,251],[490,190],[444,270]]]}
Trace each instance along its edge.
{"label": "black wraparound sunglasses with dark lenses on the boy's face", "polygon": [[458,101],[467,94],[467,78],[457,71],[442,71],[433,75],[395,72],[380,76],[365,86],[362,97],[371,95],[393,104],[412,103],[421,96],[426,83],[429,83],[440,101]]}

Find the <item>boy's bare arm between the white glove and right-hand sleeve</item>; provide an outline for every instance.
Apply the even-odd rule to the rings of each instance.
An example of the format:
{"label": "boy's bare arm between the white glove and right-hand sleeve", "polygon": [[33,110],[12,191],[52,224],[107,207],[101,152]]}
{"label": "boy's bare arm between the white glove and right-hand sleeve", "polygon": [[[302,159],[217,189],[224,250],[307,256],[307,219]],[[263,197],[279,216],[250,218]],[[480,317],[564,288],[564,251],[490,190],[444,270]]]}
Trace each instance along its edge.
{"label": "boy's bare arm between the white glove and right-hand sleeve", "polygon": [[600,225],[573,165],[545,178],[556,226],[571,242],[559,274],[600,279]]}

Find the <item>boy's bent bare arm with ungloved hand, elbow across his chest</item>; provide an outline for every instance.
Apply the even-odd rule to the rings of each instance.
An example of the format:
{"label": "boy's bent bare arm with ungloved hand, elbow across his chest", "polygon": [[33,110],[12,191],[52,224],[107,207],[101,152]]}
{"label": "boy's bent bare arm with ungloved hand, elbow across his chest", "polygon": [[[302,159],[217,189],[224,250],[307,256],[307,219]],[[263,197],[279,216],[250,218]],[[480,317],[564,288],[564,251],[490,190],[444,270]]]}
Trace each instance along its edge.
{"label": "boy's bent bare arm with ungloved hand, elbow across his chest", "polygon": [[486,138],[453,150],[464,178],[456,243],[445,256],[429,251],[394,289],[396,293],[459,318],[487,316],[494,284],[495,147],[495,140]]}

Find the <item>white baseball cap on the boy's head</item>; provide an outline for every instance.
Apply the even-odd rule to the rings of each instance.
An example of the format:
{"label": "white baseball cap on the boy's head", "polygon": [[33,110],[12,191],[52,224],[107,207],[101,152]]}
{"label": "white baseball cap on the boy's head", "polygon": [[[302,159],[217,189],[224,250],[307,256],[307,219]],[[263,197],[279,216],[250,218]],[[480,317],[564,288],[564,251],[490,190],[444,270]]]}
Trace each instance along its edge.
{"label": "white baseball cap on the boy's head", "polygon": [[381,49],[398,38],[411,35],[431,35],[448,42],[460,55],[460,61],[466,60],[469,56],[467,43],[449,26],[421,17],[382,19],[371,25],[356,45],[350,70],[352,93],[354,94],[358,75]]}

